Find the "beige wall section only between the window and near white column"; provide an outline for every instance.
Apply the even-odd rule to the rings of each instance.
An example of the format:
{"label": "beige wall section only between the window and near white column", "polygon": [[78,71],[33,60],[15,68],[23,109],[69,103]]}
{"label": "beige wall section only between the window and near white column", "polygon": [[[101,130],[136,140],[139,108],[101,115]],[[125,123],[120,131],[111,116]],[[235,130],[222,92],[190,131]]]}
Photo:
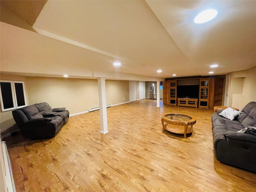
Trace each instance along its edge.
{"label": "beige wall section only between the window and near white column", "polygon": [[27,77],[26,85],[29,105],[47,102],[52,108],[66,107],[70,114],[99,105],[94,79]]}

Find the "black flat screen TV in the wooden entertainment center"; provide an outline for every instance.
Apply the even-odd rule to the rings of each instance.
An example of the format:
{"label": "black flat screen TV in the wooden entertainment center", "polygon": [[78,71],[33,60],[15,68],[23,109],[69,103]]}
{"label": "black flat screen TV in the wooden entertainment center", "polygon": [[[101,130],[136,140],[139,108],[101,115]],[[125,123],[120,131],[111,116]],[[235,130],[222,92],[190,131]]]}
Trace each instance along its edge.
{"label": "black flat screen TV in the wooden entertainment center", "polygon": [[177,85],[177,98],[199,98],[199,85]]}

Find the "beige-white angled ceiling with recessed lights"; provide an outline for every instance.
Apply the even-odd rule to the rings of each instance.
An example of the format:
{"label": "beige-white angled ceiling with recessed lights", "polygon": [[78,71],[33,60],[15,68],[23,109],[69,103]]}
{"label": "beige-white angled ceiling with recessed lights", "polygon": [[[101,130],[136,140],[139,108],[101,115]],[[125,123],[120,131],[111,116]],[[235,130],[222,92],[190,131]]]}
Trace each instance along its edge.
{"label": "beige-white angled ceiling with recessed lights", "polygon": [[[26,15],[33,6],[42,7],[35,21]],[[216,18],[195,24],[194,17],[206,8],[218,10]],[[2,15],[3,9],[8,14]],[[10,12],[38,33],[17,18],[6,21]],[[116,61],[122,66],[113,67]],[[210,69],[214,63],[219,67]],[[254,66],[256,1],[51,0],[24,5],[1,0],[1,72],[137,80],[207,76],[211,70],[220,75]]]}

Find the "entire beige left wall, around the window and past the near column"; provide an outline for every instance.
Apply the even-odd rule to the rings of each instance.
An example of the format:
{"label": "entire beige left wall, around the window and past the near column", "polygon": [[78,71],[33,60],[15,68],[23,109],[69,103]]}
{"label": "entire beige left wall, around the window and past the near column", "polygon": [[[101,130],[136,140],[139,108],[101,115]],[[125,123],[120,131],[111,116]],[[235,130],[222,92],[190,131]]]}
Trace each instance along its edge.
{"label": "entire beige left wall, around the window and past the near column", "polygon": [[[1,74],[1,80],[25,82],[28,105],[47,102],[52,108],[66,107],[70,114],[87,111],[99,106],[96,79],[25,77]],[[107,104],[129,101],[129,81],[106,80]],[[12,111],[1,112],[1,133],[10,133],[18,127]]]}

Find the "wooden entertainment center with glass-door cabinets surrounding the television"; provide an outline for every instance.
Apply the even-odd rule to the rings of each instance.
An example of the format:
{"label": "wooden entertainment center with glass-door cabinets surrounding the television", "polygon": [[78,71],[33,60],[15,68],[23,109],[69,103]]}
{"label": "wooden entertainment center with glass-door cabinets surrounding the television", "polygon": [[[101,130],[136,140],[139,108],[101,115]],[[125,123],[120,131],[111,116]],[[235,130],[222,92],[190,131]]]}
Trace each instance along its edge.
{"label": "wooden entertainment center with glass-door cabinets surrounding the television", "polygon": [[[213,108],[222,106],[224,78],[171,78],[163,82],[163,104]],[[177,86],[198,85],[198,98],[177,98]]]}

